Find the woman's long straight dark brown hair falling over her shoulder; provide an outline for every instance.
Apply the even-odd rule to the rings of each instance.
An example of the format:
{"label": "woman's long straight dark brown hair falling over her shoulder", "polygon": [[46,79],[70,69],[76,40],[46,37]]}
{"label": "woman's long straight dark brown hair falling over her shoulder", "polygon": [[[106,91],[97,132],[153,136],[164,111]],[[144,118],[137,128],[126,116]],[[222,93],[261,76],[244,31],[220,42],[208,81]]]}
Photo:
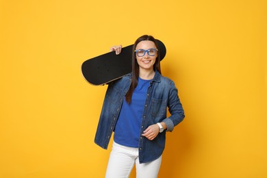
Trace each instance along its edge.
{"label": "woman's long straight dark brown hair falling over her shoulder", "polygon": [[136,42],[133,44],[133,51],[132,51],[132,56],[131,56],[131,69],[132,69],[132,73],[131,73],[131,86],[125,96],[125,99],[127,101],[127,103],[131,103],[131,96],[133,95],[133,90],[136,88],[137,84],[138,84],[138,77],[139,77],[139,65],[138,62],[136,60],[136,45],[141,42],[141,41],[152,41],[155,43],[155,46],[157,47],[157,58],[155,60],[155,64],[153,66],[154,71],[158,71],[160,74],[162,73],[162,71],[160,70],[160,48],[157,44],[157,40],[155,40],[155,38],[153,36],[149,36],[149,35],[144,35],[144,36],[140,36]]}

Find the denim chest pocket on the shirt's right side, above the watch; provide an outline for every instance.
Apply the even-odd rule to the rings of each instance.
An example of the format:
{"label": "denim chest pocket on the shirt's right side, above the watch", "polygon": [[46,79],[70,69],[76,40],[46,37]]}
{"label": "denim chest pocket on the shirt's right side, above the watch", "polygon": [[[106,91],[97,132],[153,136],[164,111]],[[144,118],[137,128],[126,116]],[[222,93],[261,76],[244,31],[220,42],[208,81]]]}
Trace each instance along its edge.
{"label": "denim chest pocket on the shirt's right side, above the watch", "polygon": [[166,99],[152,99],[151,102],[151,115],[166,116],[167,100]]}

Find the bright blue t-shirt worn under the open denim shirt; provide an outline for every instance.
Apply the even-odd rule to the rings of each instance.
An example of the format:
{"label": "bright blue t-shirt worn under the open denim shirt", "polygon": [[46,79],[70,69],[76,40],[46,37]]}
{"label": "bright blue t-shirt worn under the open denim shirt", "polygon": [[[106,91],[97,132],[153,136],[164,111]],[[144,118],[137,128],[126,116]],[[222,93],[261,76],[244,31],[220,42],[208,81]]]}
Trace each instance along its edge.
{"label": "bright blue t-shirt worn under the open denim shirt", "polygon": [[131,103],[124,99],[114,130],[114,141],[118,144],[138,148],[144,103],[150,80],[138,78]]}

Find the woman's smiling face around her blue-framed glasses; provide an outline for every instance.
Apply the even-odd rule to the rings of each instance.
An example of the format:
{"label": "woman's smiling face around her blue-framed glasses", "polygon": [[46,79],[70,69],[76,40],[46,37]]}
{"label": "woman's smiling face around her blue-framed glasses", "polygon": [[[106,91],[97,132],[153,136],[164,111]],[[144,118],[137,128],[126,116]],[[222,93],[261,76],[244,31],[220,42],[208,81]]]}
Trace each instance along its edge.
{"label": "woman's smiling face around her blue-framed glasses", "polygon": [[[136,45],[136,51],[138,49],[148,50],[148,49],[156,49],[156,48],[157,47],[155,46],[155,43],[150,40],[140,41]],[[149,70],[149,71],[153,70],[153,65],[155,64],[156,58],[157,58],[157,52],[154,56],[151,56],[148,53],[145,53],[144,56],[142,57],[138,57],[138,55],[136,55],[136,60],[138,62],[139,68]]]}

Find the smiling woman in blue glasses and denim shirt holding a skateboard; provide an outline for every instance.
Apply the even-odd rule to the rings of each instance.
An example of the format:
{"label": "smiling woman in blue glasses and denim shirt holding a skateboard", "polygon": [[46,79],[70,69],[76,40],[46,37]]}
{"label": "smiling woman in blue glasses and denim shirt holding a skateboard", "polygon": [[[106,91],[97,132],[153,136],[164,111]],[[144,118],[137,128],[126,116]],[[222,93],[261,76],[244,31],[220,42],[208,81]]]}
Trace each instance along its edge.
{"label": "smiling woman in blue glasses and denim shirt holding a skateboard", "polygon": [[[114,131],[106,177],[129,177],[134,164],[137,177],[157,177],[166,131],[173,131],[184,118],[174,82],[161,75],[158,49],[153,36],[138,38],[133,44],[132,73],[107,88],[94,140],[107,149]],[[121,46],[111,50],[119,54]]]}

